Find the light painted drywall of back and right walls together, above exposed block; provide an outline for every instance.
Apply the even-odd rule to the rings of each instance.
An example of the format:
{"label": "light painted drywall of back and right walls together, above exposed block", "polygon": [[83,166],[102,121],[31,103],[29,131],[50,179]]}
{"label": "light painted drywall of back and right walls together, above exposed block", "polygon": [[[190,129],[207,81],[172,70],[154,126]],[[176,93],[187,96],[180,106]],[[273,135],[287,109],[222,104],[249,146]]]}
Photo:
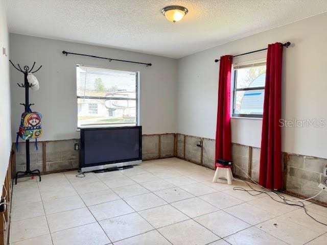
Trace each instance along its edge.
{"label": "light painted drywall of back and right walls together, above exposed block", "polygon": [[[35,74],[40,81],[40,90],[30,93],[31,102],[35,103],[33,109],[43,114],[44,135],[41,140],[79,136],[76,131],[76,64],[141,71],[143,133],[179,132],[215,138],[219,63],[214,60],[221,55],[257,50],[276,41],[293,43],[284,51],[283,118],[324,118],[327,121],[327,82],[324,72],[324,60],[327,57],[327,49],[324,48],[327,41],[326,21],[327,14],[320,14],[219,45],[178,61],[112,48],[10,34],[11,59],[15,63],[32,64],[36,61],[43,65]],[[114,61],[109,63],[78,56],[65,57],[62,50],[152,62],[153,66]],[[261,52],[235,58],[234,62],[265,56],[266,52]],[[13,68],[11,78],[12,136],[15,138],[19,117],[24,109],[19,105],[24,102],[24,91],[14,85],[22,81],[22,76]],[[260,119],[232,118],[232,141],[260,147],[261,126]],[[327,158],[326,138],[327,127],[283,128],[282,150]]]}

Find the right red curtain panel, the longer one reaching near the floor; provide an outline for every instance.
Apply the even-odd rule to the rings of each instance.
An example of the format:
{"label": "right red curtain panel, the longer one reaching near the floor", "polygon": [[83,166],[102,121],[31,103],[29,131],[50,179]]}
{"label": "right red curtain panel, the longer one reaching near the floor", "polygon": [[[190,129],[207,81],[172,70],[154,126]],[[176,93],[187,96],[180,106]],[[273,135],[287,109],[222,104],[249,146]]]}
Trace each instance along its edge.
{"label": "right red curtain panel, the longer one reaching near the floor", "polygon": [[282,188],[281,119],[283,44],[268,45],[259,184]]}

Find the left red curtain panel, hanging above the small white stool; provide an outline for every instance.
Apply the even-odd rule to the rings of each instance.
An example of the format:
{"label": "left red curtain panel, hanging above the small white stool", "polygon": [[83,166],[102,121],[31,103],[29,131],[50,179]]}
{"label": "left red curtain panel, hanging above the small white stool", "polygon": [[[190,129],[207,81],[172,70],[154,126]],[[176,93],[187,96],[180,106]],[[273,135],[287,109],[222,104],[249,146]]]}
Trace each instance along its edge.
{"label": "left red curtain panel, hanging above the small white stool", "polygon": [[233,57],[220,57],[218,83],[218,112],[216,129],[216,162],[217,159],[231,160],[230,131],[230,76]]}

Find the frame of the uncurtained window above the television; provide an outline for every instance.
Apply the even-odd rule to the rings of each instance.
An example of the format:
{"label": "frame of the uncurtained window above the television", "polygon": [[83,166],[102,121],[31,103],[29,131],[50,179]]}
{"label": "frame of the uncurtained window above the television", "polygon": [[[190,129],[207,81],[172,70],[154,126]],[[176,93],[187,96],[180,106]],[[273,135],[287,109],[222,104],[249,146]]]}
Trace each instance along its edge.
{"label": "frame of the uncurtained window above the television", "polygon": [[107,69],[107,70],[117,70],[117,71],[126,71],[126,72],[135,72],[135,99],[134,98],[126,98],[126,97],[112,97],[110,100],[123,100],[123,101],[135,101],[135,125],[127,125],[122,122],[116,122],[115,124],[101,124],[101,125],[87,125],[87,126],[81,126],[78,125],[78,99],[94,99],[94,100],[108,100],[108,97],[97,97],[97,96],[80,96],[77,95],[77,87],[76,87],[76,105],[77,105],[77,111],[76,111],[76,117],[77,117],[77,131],[79,131],[81,128],[107,128],[107,127],[135,127],[140,126],[140,94],[141,94],[141,86],[140,86],[140,72],[135,70],[125,70],[125,69],[117,69],[113,67],[103,67],[103,66],[94,66],[94,65],[85,65],[85,64],[76,64],[75,65],[75,72],[76,72],[76,83],[77,86],[77,67],[79,66],[85,66],[85,67],[91,67],[91,68],[97,68],[97,69]]}

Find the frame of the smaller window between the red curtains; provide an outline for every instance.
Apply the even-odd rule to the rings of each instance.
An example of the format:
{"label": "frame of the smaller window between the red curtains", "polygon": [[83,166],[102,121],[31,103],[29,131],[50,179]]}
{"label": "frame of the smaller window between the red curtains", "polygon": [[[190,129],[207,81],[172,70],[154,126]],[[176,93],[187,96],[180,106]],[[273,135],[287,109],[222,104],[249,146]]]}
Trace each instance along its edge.
{"label": "frame of the smaller window between the red curtains", "polygon": [[[258,63],[259,62],[249,63],[248,65],[244,66],[244,68],[259,66],[259,65],[256,65]],[[263,63],[263,62],[260,62],[260,63]],[[267,65],[266,61],[265,61],[265,65]],[[238,69],[232,69],[232,71],[233,71],[233,76],[232,76],[233,100],[232,100],[232,105],[231,105],[231,108],[232,108],[231,115],[232,115],[232,117],[263,118],[263,114],[235,113],[236,92],[237,91],[251,91],[251,90],[264,90],[265,91],[265,86],[263,86],[263,87],[251,87],[251,88],[250,87],[248,87],[248,88],[237,88],[237,70]]]}

